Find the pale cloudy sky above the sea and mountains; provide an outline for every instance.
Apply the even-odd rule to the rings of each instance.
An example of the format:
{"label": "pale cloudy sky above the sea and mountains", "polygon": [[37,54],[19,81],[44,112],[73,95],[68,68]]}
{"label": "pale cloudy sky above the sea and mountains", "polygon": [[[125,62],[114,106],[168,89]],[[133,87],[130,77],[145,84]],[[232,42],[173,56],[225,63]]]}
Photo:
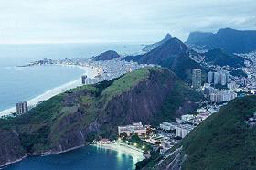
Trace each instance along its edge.
{"label": "pale cloudy sky above the sea and mountains", "polygon": [[0,0],[0,43],[155,42],[256,29],[255,0]]}

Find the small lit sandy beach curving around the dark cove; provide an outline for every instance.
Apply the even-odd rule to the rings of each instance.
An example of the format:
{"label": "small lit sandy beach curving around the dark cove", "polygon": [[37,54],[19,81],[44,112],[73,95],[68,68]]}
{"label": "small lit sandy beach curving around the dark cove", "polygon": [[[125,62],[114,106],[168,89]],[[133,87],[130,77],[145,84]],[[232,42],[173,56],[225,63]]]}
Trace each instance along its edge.
{"label": "small lit sandy beach curving around the dark cove", "polygon": [[108,144],[97,143],[93,145],[101,149],[109,149],[109,150],[117,151],[120,154],[129,154],[133,156],[133,160],[135,163],[144,160],[143,150],[140,150],[138,148],[135,148],[133,146],[129,146],[123,143],[108,143]]}

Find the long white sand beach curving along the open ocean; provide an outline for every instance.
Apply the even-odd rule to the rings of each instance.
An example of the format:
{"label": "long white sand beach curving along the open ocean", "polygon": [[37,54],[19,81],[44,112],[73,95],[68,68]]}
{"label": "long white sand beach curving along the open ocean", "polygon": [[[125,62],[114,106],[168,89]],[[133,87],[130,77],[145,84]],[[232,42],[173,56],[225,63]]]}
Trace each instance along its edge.
{"label": "long white sand beach curving along the open ocean", "polygon": [[[87,66],[81,67],[81,66],[75,66],[75,65],[74,66],[70,65],[69,67],[78,67],[80,69],[83,69],[84,70],[83,74],[87,75],[90,78],[93,78],[93,77],[98,75],[98,70],[97,69],[92,69],[91,67],[87,67]],[[63,84],[63,85],[61,85],[61,86],[59,86],[57,88],[54,88],[52,90],[47,90],[46,92],[44,92],[43,94],[37,96],[36,98],[27,101],[27,106],[28,107],[33,107],[39,101],[46,101],[46,100],[50,99],[51,97],[53,97],[55,95],[58,95],[61,92],[64,92],[66,90],[70,90],[70,89],[76,88],[76,87],[81,86],[81,85],[82,84],[81,84],[81,80],[80,79],[72,80],[72,81],[70,81],[70,82],[68,82],[66,84]],[[12,112],[16,112],[16,107],[12,107],[12,108],[6,109],[4,111],[1,111],[0,112],[0,117],[6,116],[6,115],[10,115]]]}

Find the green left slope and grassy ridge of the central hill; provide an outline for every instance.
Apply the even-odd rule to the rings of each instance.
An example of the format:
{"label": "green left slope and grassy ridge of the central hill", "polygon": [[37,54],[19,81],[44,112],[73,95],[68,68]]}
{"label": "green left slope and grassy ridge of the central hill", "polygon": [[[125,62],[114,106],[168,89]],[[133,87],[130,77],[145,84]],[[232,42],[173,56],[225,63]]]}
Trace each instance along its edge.
{"label": "green left slope and grassy ridge of the central hill", "polygon": [[[61,135],[61,132],[54,132],[57,132],[62,119],[73,114],[80,107],[81,110],[87,112],[87,115],[84,116],[84,120],[74,123],[89,124],[97,116],[95,113],[100,109],[98,108],[99,101],[111,101],[112,97],[133,88],[141,80],[147,79],[148,75],[148,69],[140,69],[117,80],[103,81],[96,85],[68,90],[42,102],[27,114],[16,118],[0,119],[0,128],[16,129],[21,134],[21,142],[28,152],[47,150],[52,143],[58,141]],[[73,99],[69,99],[70,96],[73,96]],[[101,100],[103,98],[106,99]],[[69,131],[70,128],[66,126],[63,133]],[[48,140],[49,135],[52,138],[51,141]]]}

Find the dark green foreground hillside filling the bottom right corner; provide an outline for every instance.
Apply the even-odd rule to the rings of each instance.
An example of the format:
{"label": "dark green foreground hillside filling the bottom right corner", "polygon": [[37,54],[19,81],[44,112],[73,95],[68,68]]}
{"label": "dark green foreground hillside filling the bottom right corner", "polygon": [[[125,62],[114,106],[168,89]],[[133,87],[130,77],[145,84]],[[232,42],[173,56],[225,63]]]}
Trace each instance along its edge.
{"label": "dark green foreground hillside filling the bottom right corner", "polygon": [[256,169],[255,103],[256,96],[230,101],[143,170]]}

